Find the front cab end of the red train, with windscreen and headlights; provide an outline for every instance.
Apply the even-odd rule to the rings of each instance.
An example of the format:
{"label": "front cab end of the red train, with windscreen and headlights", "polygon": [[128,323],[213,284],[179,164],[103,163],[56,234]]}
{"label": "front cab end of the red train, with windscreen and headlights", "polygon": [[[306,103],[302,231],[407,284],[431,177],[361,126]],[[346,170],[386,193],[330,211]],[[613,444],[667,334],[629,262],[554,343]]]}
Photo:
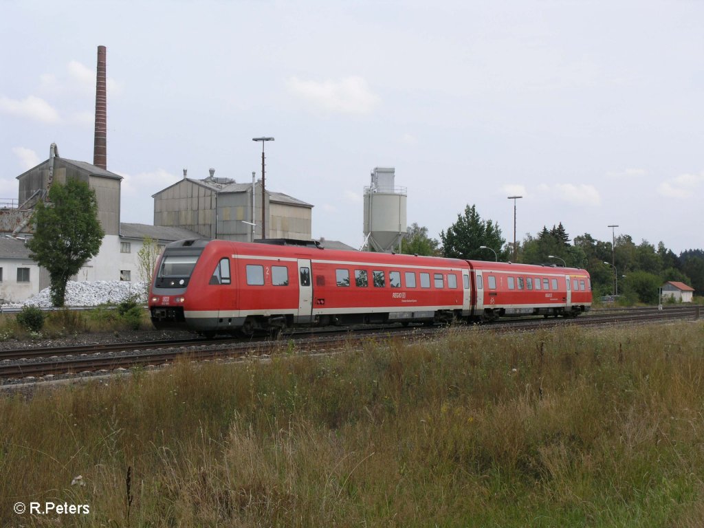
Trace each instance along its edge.
{"label": "front cab end of the red train, with windscreen and headlights", "polygon": [[206,239],[186,239],[165,247],[149,296],[149,313],[156,329],[194,329],[187,321],[189,299],[198,297],[194,270],[209,243]]}

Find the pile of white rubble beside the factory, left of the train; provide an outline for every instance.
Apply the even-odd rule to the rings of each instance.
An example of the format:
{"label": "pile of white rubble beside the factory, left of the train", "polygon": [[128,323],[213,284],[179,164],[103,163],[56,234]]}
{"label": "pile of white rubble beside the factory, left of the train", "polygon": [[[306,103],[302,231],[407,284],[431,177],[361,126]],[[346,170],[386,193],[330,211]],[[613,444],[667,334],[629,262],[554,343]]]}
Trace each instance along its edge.
{"label": "pile of white rubble beside the factory, left of the train", "polygon": [[[119,303],[130,296],[137,296],[140,303],[146,303],[146,284],[120,280],[99,280],[95,282],[73,282],[66,284],[65,306],[98,306],[104,303]],[[22,303],[5,306],[51,306],[50,289],[44,288],[37,295]]]}

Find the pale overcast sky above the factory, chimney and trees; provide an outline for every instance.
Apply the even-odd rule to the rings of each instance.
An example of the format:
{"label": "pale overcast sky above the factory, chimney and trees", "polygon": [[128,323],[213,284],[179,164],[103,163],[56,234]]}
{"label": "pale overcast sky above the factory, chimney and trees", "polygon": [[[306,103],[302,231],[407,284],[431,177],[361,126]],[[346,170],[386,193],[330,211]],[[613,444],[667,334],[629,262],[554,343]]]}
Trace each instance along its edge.
{"label": "pale overcast sky above the factory, chimney and trees", "polygon": [[182,178],[313,204],[363,242],[377,166],[439,237],[465,205],[513,240],[630,234],[704,247],[704,2],[2,1],[0,198],[49,157],[93,161],[107,46],[108,170],[122,222]]}

